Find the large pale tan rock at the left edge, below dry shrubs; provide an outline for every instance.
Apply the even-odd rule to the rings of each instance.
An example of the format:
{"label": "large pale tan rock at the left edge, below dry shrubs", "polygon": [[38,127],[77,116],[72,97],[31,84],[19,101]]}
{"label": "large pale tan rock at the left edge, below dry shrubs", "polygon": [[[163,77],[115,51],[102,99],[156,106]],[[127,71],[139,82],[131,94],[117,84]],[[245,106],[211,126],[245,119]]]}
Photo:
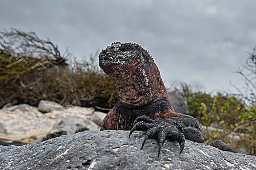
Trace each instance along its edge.
{"label": "large pale tan rock at the left edge, below dry shrubs", "polygon": [[0,124],[5,133],[0,138],[31,143],[36,136],[48,133],[55,121],[44,118],[37,107],[20,104],[0,109]]}

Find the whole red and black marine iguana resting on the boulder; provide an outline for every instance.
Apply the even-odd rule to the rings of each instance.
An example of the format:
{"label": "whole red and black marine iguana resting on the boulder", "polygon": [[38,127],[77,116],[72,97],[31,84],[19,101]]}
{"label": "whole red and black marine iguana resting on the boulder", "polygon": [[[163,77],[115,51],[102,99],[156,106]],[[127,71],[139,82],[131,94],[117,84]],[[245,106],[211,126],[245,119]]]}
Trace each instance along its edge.
{"label": "whole red and black marine iguana resting on the boulder", "polygon": [[149,52],[138,44],[112,43],[99,54],[103,71],[116,78],[118,102],[101,124],[103,130],[146,131],[147,139],[158,138],[158,157],[165,139],[180,144],[185,139],[201,143],[204,131],[200,122],[188,115],[175,113],[160,72]]}

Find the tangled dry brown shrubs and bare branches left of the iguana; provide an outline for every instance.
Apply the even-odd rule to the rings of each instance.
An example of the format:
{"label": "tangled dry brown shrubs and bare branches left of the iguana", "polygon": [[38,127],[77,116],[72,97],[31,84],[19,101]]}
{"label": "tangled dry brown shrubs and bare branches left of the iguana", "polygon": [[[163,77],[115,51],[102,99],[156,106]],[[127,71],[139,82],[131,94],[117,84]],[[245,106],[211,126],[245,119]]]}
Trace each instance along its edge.
{"label": "tangled dry brown shrubs and bare branches left of the iguana", "polygon": [[117,102],[115,79],[99,68],[97,54],[81,62],[34,32],[0,34],[0,106],[49,100],[110,108]]}

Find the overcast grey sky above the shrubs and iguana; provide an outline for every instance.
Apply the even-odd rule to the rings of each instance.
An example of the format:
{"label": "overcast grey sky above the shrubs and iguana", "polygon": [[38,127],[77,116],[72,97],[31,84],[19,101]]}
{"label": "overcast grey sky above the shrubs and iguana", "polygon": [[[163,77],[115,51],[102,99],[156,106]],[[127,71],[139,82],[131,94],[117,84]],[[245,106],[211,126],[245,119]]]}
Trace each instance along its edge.
{"label": "overcast grey sky above the shrubs and iguana", "polygon": [[167,86],[181,81],[208,92],[243,85],[234,71],[256,45],[255,17],[256,0],[0,0],[0,31],[34,31],[79,59],[135,42]]}

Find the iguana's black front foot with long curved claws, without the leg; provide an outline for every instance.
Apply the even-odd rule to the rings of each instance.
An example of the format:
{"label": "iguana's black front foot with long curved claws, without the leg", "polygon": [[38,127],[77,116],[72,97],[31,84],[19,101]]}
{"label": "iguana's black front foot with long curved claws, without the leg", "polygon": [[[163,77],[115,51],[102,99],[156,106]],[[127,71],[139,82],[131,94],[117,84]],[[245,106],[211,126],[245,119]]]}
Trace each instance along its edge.
{"label": "iguana's black front foot with long curved claws, without the leg", "polygon": [[185,136],[183,133],[176,132],[178,130],[175,127],[175,123],[170,124],[170,122],[170,119],[153,120],[146,116],[140,116],[134,121],[133,127],[129,133],[129,137],[135,130],[146,131],[146,136],[141,146],[142,149],[147,139],[150,139],[153,136],[157,136],[159,145],[158,157],[166,138],[177,141],[180,145],[180,153],[182,153],[185,144]]}

